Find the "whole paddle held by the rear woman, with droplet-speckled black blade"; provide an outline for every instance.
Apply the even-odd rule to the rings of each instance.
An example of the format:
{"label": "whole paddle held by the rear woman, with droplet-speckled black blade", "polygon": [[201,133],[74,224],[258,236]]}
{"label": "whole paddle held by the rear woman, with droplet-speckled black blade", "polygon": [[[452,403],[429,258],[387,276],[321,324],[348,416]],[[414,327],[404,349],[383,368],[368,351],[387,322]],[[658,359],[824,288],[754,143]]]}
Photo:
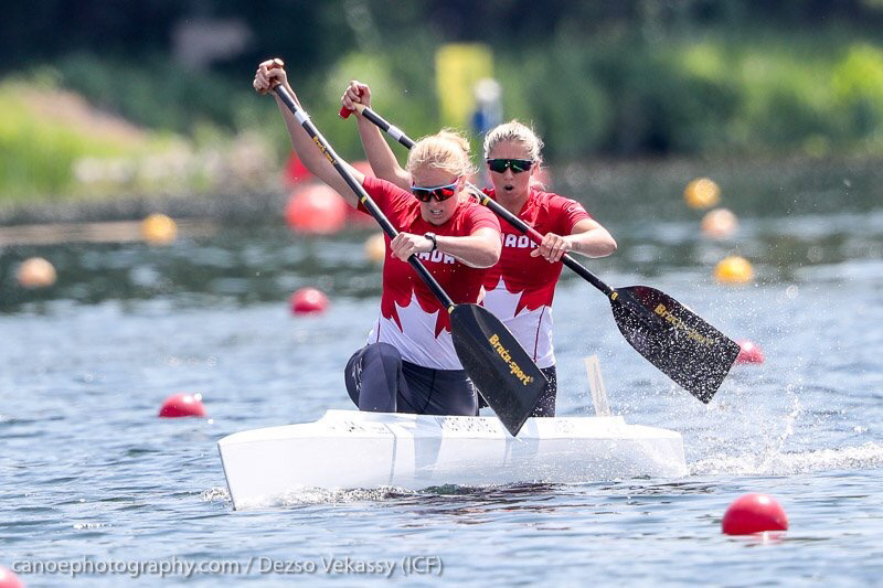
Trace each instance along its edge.
{"label": "whole paddle held by the rear woman, with droplet-speckled black blade", "polygon": [[[407,135],[371,108],[361,104],[355,107],[401,145],[407,149],[414,147]],[[341,108],[340,116],[347,118],[351,113]],[[494,200],[486,195],[480,200],[535,244],[543,240],[543,235]],[[687,392],[703,403],[711,402],[736,361],[738,344],[664,292],[649,286],[614,289],[571,254],[565,254],[562,261],[607,296],[616,325],[638,353]]]}

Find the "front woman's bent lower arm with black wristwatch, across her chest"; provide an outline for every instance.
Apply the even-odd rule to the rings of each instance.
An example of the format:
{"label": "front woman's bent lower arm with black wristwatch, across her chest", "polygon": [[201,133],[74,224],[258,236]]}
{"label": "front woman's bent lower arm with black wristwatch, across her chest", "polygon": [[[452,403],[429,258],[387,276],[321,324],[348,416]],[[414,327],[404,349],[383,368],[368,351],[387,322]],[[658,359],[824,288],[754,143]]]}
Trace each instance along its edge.
{"label": "front woman's bent lower arm with black wristwatch, across her chest", "polygon": [[[502,243],[500,233],[490,227],[482,227],[462,237],[438,235],[438,250],[456,257],[470,267],[491,267],[500,259]],[[391,243],[392,254],[406,261],[416,253],[428,253],[433,242],[423,235],[400,233]]]}

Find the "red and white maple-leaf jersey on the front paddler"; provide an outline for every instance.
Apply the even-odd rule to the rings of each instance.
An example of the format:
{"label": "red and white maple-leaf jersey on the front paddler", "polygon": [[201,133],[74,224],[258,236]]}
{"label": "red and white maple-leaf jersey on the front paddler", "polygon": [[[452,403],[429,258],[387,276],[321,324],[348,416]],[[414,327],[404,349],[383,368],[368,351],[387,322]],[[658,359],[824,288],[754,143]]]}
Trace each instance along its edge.
{"label": "red and white maple-leaf jersey on the front paddler", "polygon": [[[365,177],[364,189],[392,225],[401,232],[461,237],[479,228],[500,231],[492,212],[475,201],[460,202],[454,215],[442,225],[421,216],[421,205],[409,192],[385,180]],[[368,213],[363,204],[359,210]],[[402,353],[402,359],[436,370],[462,370],[450,336],[450,314],[433,295],[411,264],[390,253],[390,237],[384,235],[383,293],[376,327],[369,343],[385,342]],[[429,274],[455,303],[475,303],[479,299],[487,268],[474,268],[453,256],[435,250],[417,254]]]}

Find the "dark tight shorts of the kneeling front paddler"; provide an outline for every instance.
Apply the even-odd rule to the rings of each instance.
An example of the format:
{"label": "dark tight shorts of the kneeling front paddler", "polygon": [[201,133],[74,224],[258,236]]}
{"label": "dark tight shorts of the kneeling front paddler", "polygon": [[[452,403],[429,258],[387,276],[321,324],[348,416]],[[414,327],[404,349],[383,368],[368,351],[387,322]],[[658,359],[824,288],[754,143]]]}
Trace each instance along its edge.
{"label": "dark tight shorts of the kneeling front paddler", "polygon": [[389,343],[357,351],[343,374],[359,410],[474,416],[478,396],[462,370],[434,370],[406,362]]}

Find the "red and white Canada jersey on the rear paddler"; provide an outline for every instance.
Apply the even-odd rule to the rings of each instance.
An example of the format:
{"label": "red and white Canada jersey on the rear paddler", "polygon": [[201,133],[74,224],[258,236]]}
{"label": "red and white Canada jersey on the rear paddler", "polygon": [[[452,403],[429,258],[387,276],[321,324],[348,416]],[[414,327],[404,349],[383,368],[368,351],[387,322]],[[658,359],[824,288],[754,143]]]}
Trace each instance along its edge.
{"label": "red and white Canada jersey on the rear paddler", "polygon": [[[494,197],[493,189],[485,193]],[[575,200],[534,189],[518,217],[543,235],[570,235],[576,223],[591,218]],[[483,306],[503,321],[538,366],[551,367],[555,365],[552,299],[564,264],[531,257],[538,244],[503,220],[500,226],[503,250],[500,261],[485,276]]]}

